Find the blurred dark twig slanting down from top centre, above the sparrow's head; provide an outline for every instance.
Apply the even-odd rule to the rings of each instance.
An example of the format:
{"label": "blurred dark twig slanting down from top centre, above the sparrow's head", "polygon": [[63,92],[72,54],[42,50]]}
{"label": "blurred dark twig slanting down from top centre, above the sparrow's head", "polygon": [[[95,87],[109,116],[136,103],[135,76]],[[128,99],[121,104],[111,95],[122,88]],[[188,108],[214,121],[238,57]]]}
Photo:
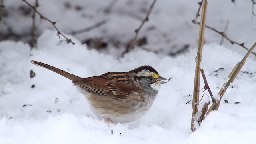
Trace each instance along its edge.
{"label": "blurred dark twig slanting down from top centre, above the sparrow's head", "polygon": [[130,47],[128,47],[128,49],[126,49],[126,51],[123,53],[123,55],[124,55],[125,53],[127,53],[127,52],[130,52],[130,51],[134,48],[134,44],[135,44],[135,42],[136,42],[136,39],[137,39],[138,34],[139,34],[139,32],[140,32],[140,29],[142,28],[143,24],[144,24],[146,21],[149,20],[148,16],[149,16],[150,12],[152,11],[152,9],[153,9],[155,3],[156,3],[156,0],[154,0],[154,1],[152,2],[152,4],[150,5],[150,8],[149,8],[149,10],[148,10],[148,12],[147,12],[147,14],[146,14],[146,17],[144,18],[144,20],[143,20],[142,23],[140,24],[139,28],[137,28],[137,29],[135,30],[135,33],[136,33],[136,34],[135,34],[135,36],[134,36],[134,39],[133,39],[133,41],[132,41],[132,44],[130,45]]}

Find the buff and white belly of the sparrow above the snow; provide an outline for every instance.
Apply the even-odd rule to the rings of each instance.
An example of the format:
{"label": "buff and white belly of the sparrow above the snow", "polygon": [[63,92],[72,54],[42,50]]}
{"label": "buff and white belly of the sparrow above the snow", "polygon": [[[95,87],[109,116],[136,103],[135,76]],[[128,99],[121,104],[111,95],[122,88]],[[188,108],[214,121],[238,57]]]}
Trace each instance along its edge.
{"label": "buff and white belly of the sparrow above the snow", "polygon": [[78,89],[88,99],[97,116],[120,123],[133,122],[144,116],[150,110],[155,99],[155,97],[116,99],[88,92],[82,88]]}

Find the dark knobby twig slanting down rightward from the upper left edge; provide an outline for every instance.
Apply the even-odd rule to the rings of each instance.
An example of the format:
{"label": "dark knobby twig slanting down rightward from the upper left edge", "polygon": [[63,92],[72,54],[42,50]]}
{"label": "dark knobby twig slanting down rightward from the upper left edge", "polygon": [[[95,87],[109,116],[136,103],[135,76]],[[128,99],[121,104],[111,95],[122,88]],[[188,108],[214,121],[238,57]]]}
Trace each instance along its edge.
{"label": "dark knobby twig slanting down rightward from the upper left edge", "polygon": [[36,10],[36,7],[35,7],[35,6],[32,6],[32,5],[31,5],[30,3],[28,3],[26,0],[22,0],[22,1],[25,2],[30,8],[32,8],[32,9],[40,16],[41,19],[44,19],[44,20],[50,22],[50,23],[52,24],[52,26],[56,29],[57,35],[59,36],[59,38],[60,38],[60,35],[61,35],[61,36],[63,36],[63,37],[66,39],[66,42],[67,42],[67,43],[71,43],[71,44],[73,44],[73,45],[75,44],[74,42],[72,42],[71,39],[68,39],[66,36],[64,36],[64,34],[62,34],[62,33],[58,30],[58,28],[55,26],[56,22],[52,22],[51,20],[49,20],[48,18],[46,18],[45,16],[43,16],[40,12],[38,12],[38,11]]}

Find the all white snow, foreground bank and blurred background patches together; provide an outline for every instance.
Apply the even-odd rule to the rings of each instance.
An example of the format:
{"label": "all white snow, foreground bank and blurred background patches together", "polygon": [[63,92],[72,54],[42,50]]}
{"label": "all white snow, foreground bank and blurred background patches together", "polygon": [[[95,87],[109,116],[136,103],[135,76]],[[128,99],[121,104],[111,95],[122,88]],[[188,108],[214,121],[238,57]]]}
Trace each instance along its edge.
{"label": "all white snow, foreground bank and blurred background patches together", "polygon": [[[216,1],[220,2],[220,0]],[[6,2],[6,7],[16,6],[11,0],[4,2]],[[42,34],[38,38],[35,49],[30,50],[30,46],[21,41],[6,40],[0,42],[1,144],[256,143],[254,138],[256,133],[256,60],[253,56],[246,60],[241,72],[226,90],[219,110],[206,116],[195,132],[190,130],[196,39],[198,38],[198,26],[191,24],[190,20],[194,18],[198,8],[196,2],[185,2],[184,0],[177,2],[157,1],[149,21],[152,23],[145,25],[148,28],[148,26],[159,24],[157,30],[147,32],[146,28],[142,29],[142,35],[149,36],[148,48],[154,46],[156,48],[152,48],[152,51],[147,48],[136,48],[125,54],[124,57],[119,56],[124,47],[111,50],[111,46],[109,46],[106,51],[97,51],[81,44],[82,36],[89,38],[90,36],[105,34],[113,36],[113,38],[122,37],[121,40],[125,42],[134,36],[133,30],[137,28],[140,21],[130,18],[131,23],[127,24],[123,21],[124,13],[127,15],[131,7],[134,8],[134,13],[140,12],[141,9],[139,6],[136,7],[136,4],[146,3],[144,9],[147,9],[150,2],[130,1],[133,2],[131,6],[122,7],[128,2],[120,1],[113,8],[114,14],[108,15],[108,18],[112,20],[111,22],[102,28],[76,37],[68,35],[69,32],[65,30],[71,26],[72,28],[84,28],[79,22],[88,21],[72,22],[76,20],[73,15],[77,12],[72,11],[72,9],[65,11],[64,8],[59,7],[58,4],[61,3],[61,0],[56,0],[51,4],[47,0],[39,2],[42,5],[39,10],[43,11],[46,6],[51,7],[44,10],[43,13],[52,16],[51,19],[61,19],[61,23],[57,23],[58,26],[76,44],[74,46],[67,44],[62,37],[58,39],[56,31],[47,30],[52,28],[44,21],[41,21]],[[80,4],[79,2],[80,0],[72,1],[72,7]],[[90,1],[89,3],[91,6],[95,5],[102,8],[109,2]],[[187,3],[191,4],[191,7],[187,7]],[[176,6],[170,8],[174,4]],[[217,17],[223,12],[224,16],[229,16],[232,20],[230,31],[228,31],[230,36],[241,42],[248,42],[246,43],[248,47],[252,46],[256,37],[255,31],[253,31],[256,18],[250,20],[250,1],[237,0],[235,6],[231,5],[229,10],[222,9],[225,4],[230,6],[230,3],[226,1],[223,1],[222,4],[209,1],[206,23],[216,25],[217,28],[221,29],[222,27],[218,24],[222,23],[223,26],[226,19],[222,16],[220,19]],[[85,4],[81,6],[86,7]],[[214,9],[216,6],[220,6],[222,11]],[[85,14],[88,16],[98,12],[98,16],[91,18],[92,21],[88,22],[90,24],[86,23],[86,25],[98,22],[100,17],[105,18],[99,12],[100,10],[90,9],[91,7],[86,8],[89,8],[89,11],[86,12],[91,13],[82,11],[81,17]],[[52,12],[53,9],[60,12],[54,13]],[[240,12],[238,16],[240,19],[235,19],[234,12],[236,10]],[[65,13],[65,16],[62,17],[61,12]],[[144,13],[139,14],[144,16]],[[246,19],[245,16],[248,18]],[[113,25],[113,23],[116,24]],[[120,28],[119,24],[126,26]],[[238,26],[242,28],[240,29]],[[0,29],[3,27],[0,26]],[[25,23],[19,27],[14,27],[17,29],[15,30],[17,33],[26,31]],[[104,29],[108,32],[104,33]],[[161,32],[166,33],[167,36],[162,37]],[[170,34],[170,32],[173,33]],[[217,96],[224,82],[228,80],[232,68],[242,60],[246,51],[242,48],[234,48],[227,41],[225,41],[224,46],[220,46],[218,44],[220,36],[214,35],[208,30],[205,32],[207,39],[203,48],[201,68],[204,69],[212,93]],[[167,42],[168,39],[174,40],[173,45],[179,46],[186,41],[190,44],[190,48],[184,54],[170,57],[166,54],[166,49],[172,47],[172,44]],[[154,50],[159,47],[162,47],[163,51],[156,54]],[[117,51],[116,54],[110,55],[110,52],[115,52],[115,50]],[[84,78],[110,71],[127,72],[138,66],[150,65],[158,71],[160,76],[166,79],[170,78],[170,80],[161,86],[152,108],[145,116],[132,123],[115,125],[94,115],[88,101],[72,86],[70,80],[31,64],[30,60],[44,62]],[[34,78],[30,78],[30,70],[36,74]],[[32,88],[32,85],[35,87]],[[203,87],[202,78],[201,87]],[[204,104],[210,99],[204,95],[200,103]],[[224,103],[224,100],[228,102]]]}

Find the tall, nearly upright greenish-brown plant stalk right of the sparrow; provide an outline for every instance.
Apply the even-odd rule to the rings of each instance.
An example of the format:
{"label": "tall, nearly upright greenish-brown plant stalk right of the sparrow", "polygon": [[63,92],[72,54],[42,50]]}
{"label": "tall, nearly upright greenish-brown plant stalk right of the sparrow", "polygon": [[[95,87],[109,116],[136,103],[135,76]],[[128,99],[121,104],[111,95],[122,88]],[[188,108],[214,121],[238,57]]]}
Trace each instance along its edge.
{"label": "tall, nearly upright greenish-brown plant stalk right of the sparrow", "polygon": [[195,130],[195,121],[194,118],[198,113],[198,104],[199,104],[199,89],[200,89],[200,64],[202,60],[202,50],[204,44],[204,27],[205,27],[205,19],[206,19],[206,8],[207,8],[207,0],[204,0],[202,14],[201,14],[201,23],[200,23],[200,31],[199,31],[199,39],[198,39],[198,48],[197,48],[197,56],[196,56],[196,70],[195,70],[195,80],[194,80],[194,92],[193,92],[193,102],[192,102],[192,119],[191,119],[191,130]]}

